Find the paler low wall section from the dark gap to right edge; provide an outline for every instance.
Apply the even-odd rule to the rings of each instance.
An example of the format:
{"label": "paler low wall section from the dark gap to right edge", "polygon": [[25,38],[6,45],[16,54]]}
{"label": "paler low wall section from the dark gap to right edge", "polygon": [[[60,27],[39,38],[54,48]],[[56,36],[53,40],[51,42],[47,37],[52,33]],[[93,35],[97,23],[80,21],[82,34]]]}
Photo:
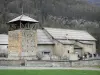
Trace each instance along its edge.
{"label": "paler low wall section from the dark gap to right edge", "polygon": [[100,60],[83,61],[27,61],[26,66],[33,67],[88,67],[100,65]]}

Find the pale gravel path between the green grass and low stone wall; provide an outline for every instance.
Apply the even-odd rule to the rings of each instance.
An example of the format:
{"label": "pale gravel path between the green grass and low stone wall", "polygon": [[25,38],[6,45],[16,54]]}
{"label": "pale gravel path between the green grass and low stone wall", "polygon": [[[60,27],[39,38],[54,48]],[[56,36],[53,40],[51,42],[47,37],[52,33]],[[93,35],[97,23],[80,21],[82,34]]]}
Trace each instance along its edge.
{"label": "pale gravel path between the green grass and low stone wall", "polygon": [[92,67],[83,67],[83,68],[74,68],[74,67],[7,67],[2,66],[0,67],[0,70],[8,70],[8,69],[14,69],[14,70],[55,70],[55,69],[61,69],[61,70],[98,70],[100,71],[100,68],[92,68]]}

